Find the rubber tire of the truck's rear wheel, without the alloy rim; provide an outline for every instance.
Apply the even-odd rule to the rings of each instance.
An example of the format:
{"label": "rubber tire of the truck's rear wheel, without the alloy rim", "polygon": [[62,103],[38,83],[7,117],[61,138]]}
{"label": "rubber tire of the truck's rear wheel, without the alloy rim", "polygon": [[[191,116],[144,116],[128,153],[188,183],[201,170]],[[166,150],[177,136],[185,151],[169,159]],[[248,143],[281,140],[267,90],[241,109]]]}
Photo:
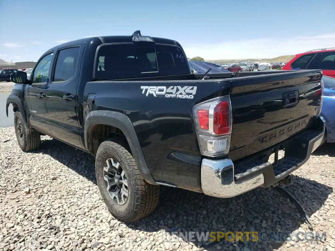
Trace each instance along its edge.
{"label": "rubber tire of the truck's rear wheel, without the alloy rim", "polygon": [[[109,158],[117,160],[127,176],[128,198],[123,205],[115,202],[106,188],[104,165]],[[113,138],[100,144],[95,157],[95,175],[100,193],[115,218],[134,222],[155,210],[159,199],[159,185],[151,185],[143,179],[135,159],[122,139]]]}

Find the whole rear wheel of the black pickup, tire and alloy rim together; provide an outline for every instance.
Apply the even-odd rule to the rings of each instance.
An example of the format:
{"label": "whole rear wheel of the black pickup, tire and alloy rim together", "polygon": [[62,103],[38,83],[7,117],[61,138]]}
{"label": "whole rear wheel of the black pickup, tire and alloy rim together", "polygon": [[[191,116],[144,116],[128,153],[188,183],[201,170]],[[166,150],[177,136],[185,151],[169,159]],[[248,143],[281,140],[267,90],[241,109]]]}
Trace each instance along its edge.
{"label": "whole rear wheel of the black pickup, tire and alloy rim together", "polygon": [[134,222],[155,210],[159,186],[143,179],[135,159],[124,146],[121,139],[101,143],[96,153],[95,174],[111,214],[124,222]]}

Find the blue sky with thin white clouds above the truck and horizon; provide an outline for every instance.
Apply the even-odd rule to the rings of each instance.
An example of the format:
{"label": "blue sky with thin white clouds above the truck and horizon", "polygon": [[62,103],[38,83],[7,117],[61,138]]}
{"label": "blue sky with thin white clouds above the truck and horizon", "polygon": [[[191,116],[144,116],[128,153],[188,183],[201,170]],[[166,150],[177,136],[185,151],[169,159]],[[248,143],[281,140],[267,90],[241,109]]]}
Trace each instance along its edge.
{"label": "blue sky with thin white clouds above the truck and horizon", "polygon": [[335,47],[334,13],[335,0],[0,0],[0,59],[135,30],[177,40],[188,58],[274,58]]}

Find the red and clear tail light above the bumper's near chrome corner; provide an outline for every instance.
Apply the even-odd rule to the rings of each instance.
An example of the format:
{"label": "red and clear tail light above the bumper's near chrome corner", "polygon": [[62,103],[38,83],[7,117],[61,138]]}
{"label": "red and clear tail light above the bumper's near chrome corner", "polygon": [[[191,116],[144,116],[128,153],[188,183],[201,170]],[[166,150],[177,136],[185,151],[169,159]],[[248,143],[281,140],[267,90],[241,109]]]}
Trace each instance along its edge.
{"label": "red and clear tail light above the bumper's near chrome corner", "polygon": [[201,154],[210,157],[228,154],[232,123],[229,96],[195,105],[193,117]]}

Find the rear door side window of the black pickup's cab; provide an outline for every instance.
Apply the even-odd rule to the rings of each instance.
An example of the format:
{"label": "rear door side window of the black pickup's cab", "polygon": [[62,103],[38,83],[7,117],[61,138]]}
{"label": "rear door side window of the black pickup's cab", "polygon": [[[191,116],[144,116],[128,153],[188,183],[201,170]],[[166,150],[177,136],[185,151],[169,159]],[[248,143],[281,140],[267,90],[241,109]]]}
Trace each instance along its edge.
{"label": "rear door side window of the black pickup's cab", "polygon": [[52,82],[67,81],[75,75],[79,50],[80,47],[73,47],[58,52]]}

